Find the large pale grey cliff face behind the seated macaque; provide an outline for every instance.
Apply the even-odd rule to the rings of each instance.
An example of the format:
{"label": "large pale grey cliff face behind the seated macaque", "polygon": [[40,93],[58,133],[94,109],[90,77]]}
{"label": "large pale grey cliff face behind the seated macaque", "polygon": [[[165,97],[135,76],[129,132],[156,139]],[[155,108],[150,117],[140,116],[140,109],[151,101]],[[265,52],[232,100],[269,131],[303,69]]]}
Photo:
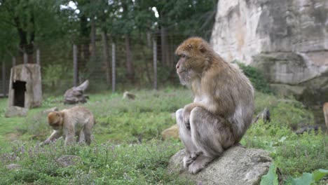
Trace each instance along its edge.
{"label": "large pale grey cliff face behind the seated macaque", "polygon": [[261,69],[282,95],[328,100],[327,12],[327,0],[219,1],[211,43]]}

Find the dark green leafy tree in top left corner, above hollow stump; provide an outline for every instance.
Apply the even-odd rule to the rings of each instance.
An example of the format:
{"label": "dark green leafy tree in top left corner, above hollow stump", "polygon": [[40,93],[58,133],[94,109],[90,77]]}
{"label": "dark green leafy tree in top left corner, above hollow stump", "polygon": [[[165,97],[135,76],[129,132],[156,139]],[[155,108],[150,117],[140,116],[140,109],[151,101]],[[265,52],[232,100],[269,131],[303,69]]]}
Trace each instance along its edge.
{"label": "dark green leafy tree in top left corner, above hollow stump", "polygon": [[15,38],[9,44],[4,43],[8,50],[19,49],[27,53],[31,61],[35,43],[58,31],[55,27],[59,24],[55,16],[57,9],[56,1],[0,0],[0,25]]}

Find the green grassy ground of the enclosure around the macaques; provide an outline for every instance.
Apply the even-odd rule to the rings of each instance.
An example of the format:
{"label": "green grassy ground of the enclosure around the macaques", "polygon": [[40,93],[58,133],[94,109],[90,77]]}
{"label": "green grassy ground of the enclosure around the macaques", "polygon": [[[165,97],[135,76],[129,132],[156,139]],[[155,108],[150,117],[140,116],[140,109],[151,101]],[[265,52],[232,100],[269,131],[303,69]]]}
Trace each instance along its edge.
{"label": "green grassy ground of the enclosure around the macaques", "polygon": [[[26,118],[4,118],[6,100],[0,100],[0,184],[189,184],[169,174],[165,167],[181,142],[163,142],[160,132],[175,124],[172,113],[191,102],[189,90],[132,90],[136,100],[121,94],[90,95],[88,107],[97,121],[91,146],[62,147],[62,141],[40,148],[51,130],[42,111],[64,109],[62,97],[48,97],[42,107],[31,109]],[[265,149],[284,178],[297,177],[328,166],[327,137],[321,132],[296,135],[299,123],[313,124],[313,114],[295,100],[256,94],[256,113],[268,107],[271,123],[253,124],[242,139],[249,148]],[[55,159],[63,154],[81,157],[81,163],[60,167]],[[16,163],[22,170],[8,171]]]}

